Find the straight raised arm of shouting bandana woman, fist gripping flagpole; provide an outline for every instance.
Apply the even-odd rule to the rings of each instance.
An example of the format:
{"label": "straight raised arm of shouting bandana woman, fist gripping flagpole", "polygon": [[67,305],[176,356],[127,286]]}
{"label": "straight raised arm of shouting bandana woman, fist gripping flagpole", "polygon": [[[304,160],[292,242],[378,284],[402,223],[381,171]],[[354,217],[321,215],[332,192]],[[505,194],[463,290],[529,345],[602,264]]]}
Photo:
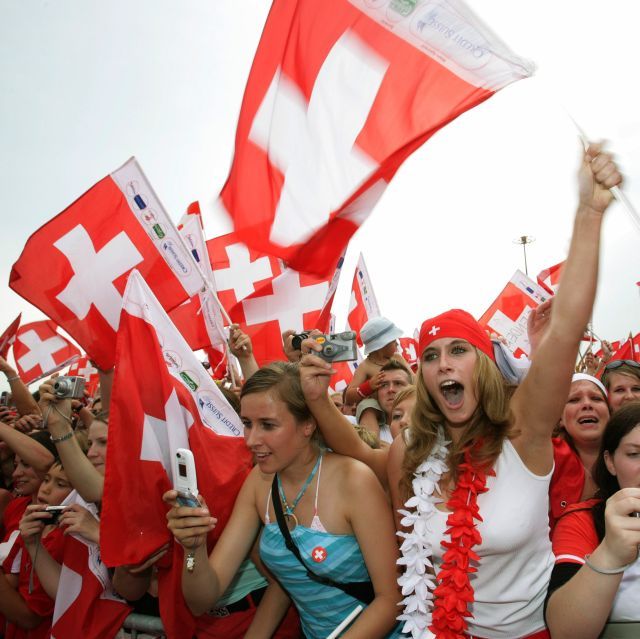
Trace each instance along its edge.
{"label": "straight raised arm of shouting bandana woman, fist gripping flagpole", "polygon": [[538,474],[551,470],[551,433],[569,393],[595,298],[602,220],[612,200],[609,189],[621,180],[611,156],[598,145],[590,146],[578,174],[580,200],[549,327],[511,404],[512,443],[528,468]]}

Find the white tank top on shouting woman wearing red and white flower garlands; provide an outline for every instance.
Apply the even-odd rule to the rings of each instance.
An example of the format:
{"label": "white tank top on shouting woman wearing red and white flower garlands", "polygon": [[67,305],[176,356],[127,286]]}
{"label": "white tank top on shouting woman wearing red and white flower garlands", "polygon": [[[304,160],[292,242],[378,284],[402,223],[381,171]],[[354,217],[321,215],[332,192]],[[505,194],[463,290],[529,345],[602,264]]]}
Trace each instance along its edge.
{"label": "white tank top on shouting woman wearing red and white flower garlands", "polygon": [[[551,473],[534,475],[513,444],[505,440],[487,478],[488,491],[478,497],[483,519],[478,572],[471,574],[475,602],[469,634],[486,639],[514,639],[544,628],[542,605],[554,564],[549,540]],[[437,510],[430,519],[436,571],[442,563],[449,513]]]}

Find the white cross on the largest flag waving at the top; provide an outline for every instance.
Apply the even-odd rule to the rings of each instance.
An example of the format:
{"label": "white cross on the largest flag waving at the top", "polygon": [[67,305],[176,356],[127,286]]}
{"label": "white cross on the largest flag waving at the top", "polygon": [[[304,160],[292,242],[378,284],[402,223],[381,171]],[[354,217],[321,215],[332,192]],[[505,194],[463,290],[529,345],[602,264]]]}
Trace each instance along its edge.
{"label": "white cross on the largest flag waving at the top", "polygon": [[290,246],[308,239],[378,168],[355,141],[387,67],[347,31],[325,59],[308,104],[295,83],[276,72],[249,133],[285,176],[271,241]]}

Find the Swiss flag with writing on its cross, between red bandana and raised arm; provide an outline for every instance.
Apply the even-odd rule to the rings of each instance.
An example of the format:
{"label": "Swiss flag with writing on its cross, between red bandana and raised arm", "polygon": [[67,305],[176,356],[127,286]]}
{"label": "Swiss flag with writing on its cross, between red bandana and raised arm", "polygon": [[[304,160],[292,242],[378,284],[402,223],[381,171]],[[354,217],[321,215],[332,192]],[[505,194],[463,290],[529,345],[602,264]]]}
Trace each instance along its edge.
{"label": "Swiss flag with writing on its cross, between red bandana and raised arm", "polygon": [[545,289],[522,271],[516,271],[478,322],[489,332],[502,335],[507,341],[507,347],[516,357],[528,356],[529,313],[550,297]]}

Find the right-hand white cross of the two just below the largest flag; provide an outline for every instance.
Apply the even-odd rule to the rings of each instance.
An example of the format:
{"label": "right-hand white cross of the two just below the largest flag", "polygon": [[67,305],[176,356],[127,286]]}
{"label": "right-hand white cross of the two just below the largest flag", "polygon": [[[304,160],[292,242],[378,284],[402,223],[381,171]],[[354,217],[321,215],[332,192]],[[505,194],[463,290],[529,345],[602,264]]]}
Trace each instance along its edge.
{"label": "right-hand white cross of the two just below the largest flag", "polygon": [[300,274],[287,270],[273,282],[273,295],[263,295],[242,302],[248,325],[277,320],[280,332],[292,328],[302,330],[303,315],[322,308],[329,284],[321,282],[300,286]]}

